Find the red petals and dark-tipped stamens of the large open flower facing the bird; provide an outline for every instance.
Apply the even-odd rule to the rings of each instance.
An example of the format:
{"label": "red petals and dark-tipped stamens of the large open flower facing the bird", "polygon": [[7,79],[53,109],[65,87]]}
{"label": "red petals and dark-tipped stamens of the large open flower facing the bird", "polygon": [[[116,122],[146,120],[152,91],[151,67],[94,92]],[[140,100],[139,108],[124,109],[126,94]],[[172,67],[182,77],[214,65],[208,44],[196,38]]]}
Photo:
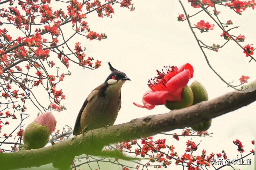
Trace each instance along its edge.
{"label": "red petals and dark-tipped stamens of the large open flower facing the bird", "polygon": [[148,81],[148,90],[144,93],[142,103],[144,106],[133,103],[135,106],[153,109],[156,105],[166,104],[168,101],[181,101],[182,88],[185,87],[190,78],[193,77],[193,67],[189,63],[165,67],[167,72],[159,72],[158,76]]}

